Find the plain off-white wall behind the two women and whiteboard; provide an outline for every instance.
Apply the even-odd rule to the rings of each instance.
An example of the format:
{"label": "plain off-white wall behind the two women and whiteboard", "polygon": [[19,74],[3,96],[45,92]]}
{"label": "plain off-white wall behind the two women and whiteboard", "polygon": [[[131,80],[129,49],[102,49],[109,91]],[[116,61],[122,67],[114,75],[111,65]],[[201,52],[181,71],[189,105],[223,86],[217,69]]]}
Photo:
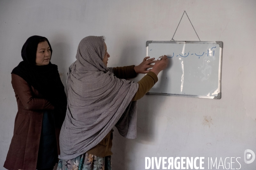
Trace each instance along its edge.
{"label": "plain off-white wall behind the two women and whiteboard", "polygon": [[[113,170],[143,170],[146,156],[201,156],[205,169],[208,157],[241,157],[241,170],[254,170],[256,161],[245,164],[244,150],[256,152],[255,9],[256,0],[1,0],[0,170],[17,113],[11,71],[28,37],[48,38],[65,85],[82,38],[106,36],[108,66],[138,65],[147,40],[172,39],[184,10],[202,41],[224,42],[222,98],[144,96],[137,139],[114,131]],[[186,16],[174,39],[198,40]]]}

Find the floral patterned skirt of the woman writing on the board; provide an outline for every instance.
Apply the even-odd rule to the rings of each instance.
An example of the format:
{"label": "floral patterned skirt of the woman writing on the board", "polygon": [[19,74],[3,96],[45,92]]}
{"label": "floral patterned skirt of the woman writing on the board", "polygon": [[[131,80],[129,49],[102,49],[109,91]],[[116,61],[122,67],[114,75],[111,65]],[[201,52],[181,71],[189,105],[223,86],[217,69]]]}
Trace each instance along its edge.
{"label": "floral patterned skirt of the woman writing on the board", "polygon": [[84,153],[71,160],[59,160],[57,170],[111,170],[111,156]]}

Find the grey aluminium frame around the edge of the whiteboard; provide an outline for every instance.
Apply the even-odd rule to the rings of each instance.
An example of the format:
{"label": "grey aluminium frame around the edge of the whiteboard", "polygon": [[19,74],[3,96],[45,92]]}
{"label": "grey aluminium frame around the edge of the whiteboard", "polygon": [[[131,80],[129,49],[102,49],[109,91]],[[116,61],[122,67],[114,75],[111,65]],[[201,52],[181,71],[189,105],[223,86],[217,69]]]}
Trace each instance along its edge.
{"label": "grey aluminium frame around the edge of the whiteboard", "polygon": [[198,96],[198,95],[186,95],[186,94],[169,94],[169,93],[151,93],[149,95],[162,95],[162,96],[183,96],[183,97],[197,97],[207,99],[221,99],[221,67],[222,67],[222,41],[147,41],[146,42],[146,57],[148,56],[148,44],[150,43],[171,43],[171,44],[218,44],[220,46],[219,54],[219,69],[218,69],[218,95],[217,96]]}

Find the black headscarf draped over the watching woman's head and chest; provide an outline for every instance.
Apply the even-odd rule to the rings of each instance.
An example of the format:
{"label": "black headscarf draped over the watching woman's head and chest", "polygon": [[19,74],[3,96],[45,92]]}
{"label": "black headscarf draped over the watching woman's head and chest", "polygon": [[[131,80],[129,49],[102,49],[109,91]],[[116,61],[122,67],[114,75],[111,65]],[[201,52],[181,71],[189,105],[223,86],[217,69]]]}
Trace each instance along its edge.
{"label": "black headscarf draped over the watching woman's head and chest", "polygon": [[61,127],[66,115],[67,97],[57,65],[51,62],[48,65],[35,65],[38,43],[42,40],[48,42],[52,55],[52,47],[47,38],[37,35],[29,37],[21,50],[23,61],[12,70],[12,74],[23,78],[54,105],[55,125]]}

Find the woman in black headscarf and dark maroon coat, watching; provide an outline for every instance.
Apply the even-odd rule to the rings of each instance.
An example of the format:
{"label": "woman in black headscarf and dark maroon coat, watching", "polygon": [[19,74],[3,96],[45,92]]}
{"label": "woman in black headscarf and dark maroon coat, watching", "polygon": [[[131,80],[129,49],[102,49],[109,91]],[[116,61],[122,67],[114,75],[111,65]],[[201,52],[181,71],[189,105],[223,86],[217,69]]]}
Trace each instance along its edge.
{"label": "woman in black headscarf and dark maroon coat, watching", "polygon": [[58,162],[58,137],[67,98],[50,62],[52,48],[45,37],[32,36],[21,50],[23,61],[12,71],[18,111],[4,164],[8,170],[52,170]]}

